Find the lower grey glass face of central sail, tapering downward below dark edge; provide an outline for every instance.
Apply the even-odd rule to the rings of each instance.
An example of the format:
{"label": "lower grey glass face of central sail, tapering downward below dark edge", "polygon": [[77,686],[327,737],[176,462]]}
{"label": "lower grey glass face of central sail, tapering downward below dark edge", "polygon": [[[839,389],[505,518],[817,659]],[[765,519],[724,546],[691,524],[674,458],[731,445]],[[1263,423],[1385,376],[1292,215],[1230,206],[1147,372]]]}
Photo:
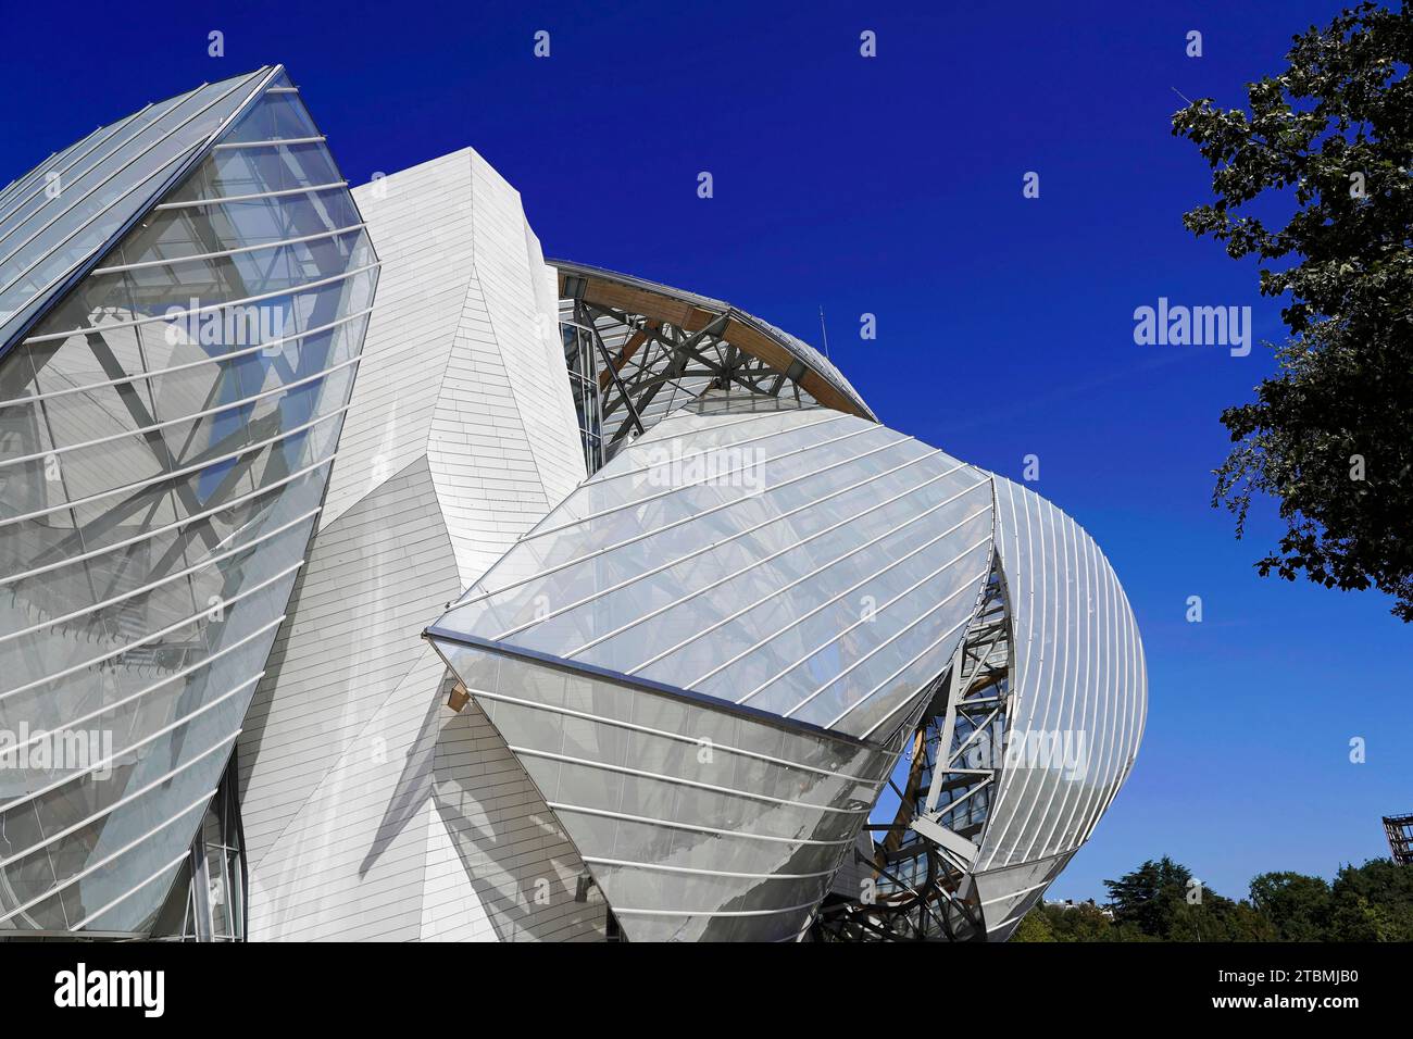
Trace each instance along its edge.
{"label": "lower grey glass face of central sail, tapering downward below dark edge", "polygon": [[787,940],[851,854],[892,746],[791,731],[435,639],[634,941]]}

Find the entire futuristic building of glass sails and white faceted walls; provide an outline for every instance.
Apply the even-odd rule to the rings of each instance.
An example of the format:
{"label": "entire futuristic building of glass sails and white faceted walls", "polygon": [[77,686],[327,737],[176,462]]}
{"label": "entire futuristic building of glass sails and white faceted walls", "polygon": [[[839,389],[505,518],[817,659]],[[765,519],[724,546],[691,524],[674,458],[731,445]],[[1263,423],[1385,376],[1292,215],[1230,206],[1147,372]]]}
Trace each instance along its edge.
{"label": "entire futuristic building of glass sails and white faceted walls", "polygon": [[0,192],[0,937],[1009,937],[1143,731],[1098,546],[305,102]]}

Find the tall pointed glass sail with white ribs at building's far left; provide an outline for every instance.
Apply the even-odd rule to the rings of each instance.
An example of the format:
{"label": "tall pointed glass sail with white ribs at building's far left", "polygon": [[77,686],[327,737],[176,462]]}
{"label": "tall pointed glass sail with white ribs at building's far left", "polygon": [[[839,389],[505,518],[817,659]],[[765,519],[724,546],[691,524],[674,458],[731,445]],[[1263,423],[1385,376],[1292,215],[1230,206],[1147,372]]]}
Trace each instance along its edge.
{"label": "tall pointed glass sail with white ribs at building's far left", "polygon": [[[0,929],[150,926],[338,445],[377,257],[283,69],[218,86],[95,148],[219,129],[151,147],[140,219],[0,360]],[[198,144],[153,196],[158,157]]]}

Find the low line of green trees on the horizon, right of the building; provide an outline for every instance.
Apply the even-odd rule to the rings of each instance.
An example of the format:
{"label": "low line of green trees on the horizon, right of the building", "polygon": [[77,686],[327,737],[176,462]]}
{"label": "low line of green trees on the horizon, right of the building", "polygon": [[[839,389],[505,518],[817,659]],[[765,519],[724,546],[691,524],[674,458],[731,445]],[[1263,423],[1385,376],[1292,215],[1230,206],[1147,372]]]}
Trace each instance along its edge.
{"label": "low line of green trees on the horizon, right of the building", "polygon": [[1413,941],[1413,867],[1388,858],[1347,865],[1332,884],[1262,874],[1239,900],[1201,886],[1166,855],[1104,885],[1105,906],[1036,906],[1010,940]]}

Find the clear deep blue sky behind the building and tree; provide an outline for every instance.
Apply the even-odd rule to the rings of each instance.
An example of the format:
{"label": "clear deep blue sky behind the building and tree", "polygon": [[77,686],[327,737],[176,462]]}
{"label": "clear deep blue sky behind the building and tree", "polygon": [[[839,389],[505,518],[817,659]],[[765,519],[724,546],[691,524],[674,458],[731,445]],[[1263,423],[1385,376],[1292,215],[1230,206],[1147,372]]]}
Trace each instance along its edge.
{"label": "clear deep blue sky behind the building and tree", "polygon": [[1013,478],[1039,455],[1036,489],[1128,589],[1152,697],[1135,775],[1053,895],[1102,896],[1163,854],[1228,895],[1267,869],[1331,875],[1386,854],[1381,814],[1413,811],[1413,628],[1376,594],[1260,580],[1270,510],[1236,543],[1208,506],[1217,417],[1269,352],[1133,344],[1160,295],[1251,304],[1258,336],[1280,335],[1255,271],[1183,230],[1208,175],[1169,116],[1174,89],[1243,102],[1334,3],[85,6],[7,6],[0,184],[146,102],[284,62],[350,181],[475,146],[547,254],[814,342],[822,304],[889,425]]}

